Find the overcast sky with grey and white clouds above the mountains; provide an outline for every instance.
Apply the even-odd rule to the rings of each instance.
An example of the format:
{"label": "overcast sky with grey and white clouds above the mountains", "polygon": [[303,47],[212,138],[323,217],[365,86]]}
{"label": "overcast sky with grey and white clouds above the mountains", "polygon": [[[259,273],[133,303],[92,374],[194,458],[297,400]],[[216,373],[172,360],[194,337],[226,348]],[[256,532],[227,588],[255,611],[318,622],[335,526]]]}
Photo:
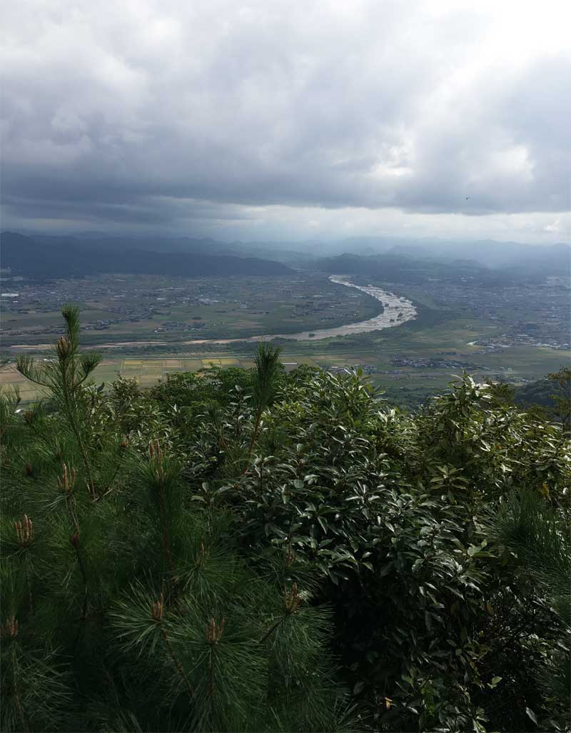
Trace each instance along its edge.
{"label": "overcast sky with grey and white clouds above the mountains", "polygon": [[18,0],[2,228],[570,238],[568,0]]}

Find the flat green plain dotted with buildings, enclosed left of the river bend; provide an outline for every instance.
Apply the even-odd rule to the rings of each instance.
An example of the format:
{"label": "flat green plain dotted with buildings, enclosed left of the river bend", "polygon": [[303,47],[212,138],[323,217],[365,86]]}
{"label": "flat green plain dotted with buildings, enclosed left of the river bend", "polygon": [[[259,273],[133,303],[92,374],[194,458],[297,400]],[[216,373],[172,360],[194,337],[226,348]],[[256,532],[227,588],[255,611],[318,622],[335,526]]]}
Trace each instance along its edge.
{"label": "flat green plain dotted with buildings, enclosed left of the river bend", "polygon": [[84,345],[235,339],[331,328],[380,312],[375,298],[323,273],[273,278],[92,276],[25,284],[2,315],[4,347],[42,345],[61,331],[60,310],[81,309]]}

